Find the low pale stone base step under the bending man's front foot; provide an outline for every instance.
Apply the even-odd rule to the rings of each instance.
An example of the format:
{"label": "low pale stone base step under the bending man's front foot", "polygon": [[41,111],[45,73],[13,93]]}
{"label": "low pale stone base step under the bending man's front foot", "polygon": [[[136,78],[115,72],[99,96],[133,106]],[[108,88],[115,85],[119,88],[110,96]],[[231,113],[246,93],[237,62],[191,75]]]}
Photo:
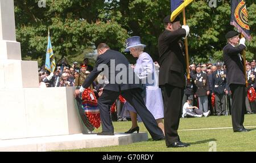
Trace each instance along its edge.
{"label": "low pale stone base step under the bending man's front foot", "polygon": [[74,134],[63,136],[47,136],[43,138],[26,138],[0,140],[0,151],[44,152],[81,148],[107,147],[127,145],[139,141],[147,141],[147,132],[139,134],[118,134],[114,136],[98,136],[96,134]]}

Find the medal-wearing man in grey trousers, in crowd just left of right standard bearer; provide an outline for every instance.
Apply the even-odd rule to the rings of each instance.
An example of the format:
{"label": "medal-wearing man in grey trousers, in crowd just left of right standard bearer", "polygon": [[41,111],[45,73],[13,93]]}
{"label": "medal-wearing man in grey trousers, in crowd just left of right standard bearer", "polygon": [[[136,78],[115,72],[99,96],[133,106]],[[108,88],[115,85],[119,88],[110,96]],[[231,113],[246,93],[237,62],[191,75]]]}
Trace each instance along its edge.
{"label": "medal-wearing man in grey trousers, in crowd just left of right standard bearer", "polygon": [[212,87],[215,94],[215,108],[217,115],[226,115],[225,91],[226,74],[221,70],[221,63],[217,62],[217,71],[212,74]]}

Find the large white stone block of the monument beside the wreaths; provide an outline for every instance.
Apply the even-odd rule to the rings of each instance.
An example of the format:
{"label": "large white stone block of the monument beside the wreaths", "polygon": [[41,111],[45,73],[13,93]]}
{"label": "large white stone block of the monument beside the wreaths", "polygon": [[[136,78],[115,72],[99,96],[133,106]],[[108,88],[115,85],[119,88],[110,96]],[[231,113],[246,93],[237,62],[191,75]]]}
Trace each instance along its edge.
{"label": "large white stone block of the monument beside the wreaths", "polygon": [[0,139],[79,134],[75,87],[0,89]]}

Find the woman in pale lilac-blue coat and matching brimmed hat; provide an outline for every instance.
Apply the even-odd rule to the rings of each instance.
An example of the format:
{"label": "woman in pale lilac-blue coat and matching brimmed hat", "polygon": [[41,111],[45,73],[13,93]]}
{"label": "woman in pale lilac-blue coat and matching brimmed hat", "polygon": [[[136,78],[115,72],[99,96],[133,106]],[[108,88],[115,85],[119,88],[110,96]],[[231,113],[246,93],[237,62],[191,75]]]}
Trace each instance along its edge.
{"label": "woman in pale lilac-blue coat and matching brimmed hat", "polygon": [[[158,87],[159,67],[155,66],[149,54],[143,52],[146,45],[141,44],[139,36],[130,37],[126,42],[125,52],[130,52],[133,57],[138,58],[136,65],[134,66],[134,72],[142,81],[144,88],[144,102],[146,103],[147,109],[156,119],[158,127],[160,127],[164,133],[163,98],[161,89]],[[139,132],[135,109],[131,105],[126,109],[129,110],[132,127],[125,133],[133,133],[134,131]]]}

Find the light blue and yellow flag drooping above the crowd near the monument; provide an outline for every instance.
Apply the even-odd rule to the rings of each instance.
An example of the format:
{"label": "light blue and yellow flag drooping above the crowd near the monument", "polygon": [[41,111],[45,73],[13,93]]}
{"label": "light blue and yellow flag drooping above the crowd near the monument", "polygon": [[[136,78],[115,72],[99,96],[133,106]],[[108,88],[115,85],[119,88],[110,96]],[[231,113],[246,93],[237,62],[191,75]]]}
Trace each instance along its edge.
{"label": "light blue and yellow flag drooping above the crowd near the monument", "polygon": [[56,63],[53,56],[51,38],[49,36],[49,30],[48,30],[48,45],[46,50],[46,70],[48,70],[49,72],[53,72],[55,67],[56,67]]}

